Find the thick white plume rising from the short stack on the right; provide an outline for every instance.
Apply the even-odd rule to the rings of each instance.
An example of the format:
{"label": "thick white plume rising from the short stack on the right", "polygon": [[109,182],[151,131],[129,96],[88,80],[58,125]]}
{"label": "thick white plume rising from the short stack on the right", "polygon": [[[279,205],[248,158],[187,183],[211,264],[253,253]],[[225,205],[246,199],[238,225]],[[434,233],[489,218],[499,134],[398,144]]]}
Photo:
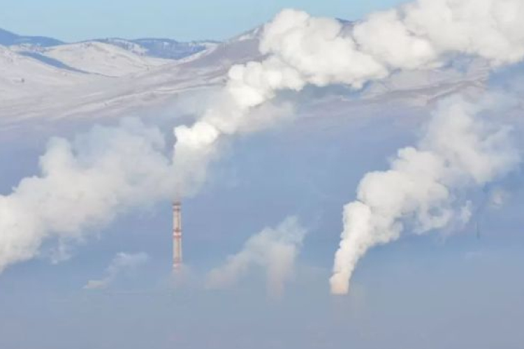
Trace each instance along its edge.
{"label": "thick white plume rising from the short stack on the right", "polygon": [[344,207],[344,230],[335,255],[331,291],[344,294],[358,260],[373,246],[406,230],[417,234],[468,221],[471,203],[460,193],[499,179],[520,162],[509,128],[477,117],[460,98],[439,106],[416,147],[400,149],[391,168],[365,174],[357,200]]}

